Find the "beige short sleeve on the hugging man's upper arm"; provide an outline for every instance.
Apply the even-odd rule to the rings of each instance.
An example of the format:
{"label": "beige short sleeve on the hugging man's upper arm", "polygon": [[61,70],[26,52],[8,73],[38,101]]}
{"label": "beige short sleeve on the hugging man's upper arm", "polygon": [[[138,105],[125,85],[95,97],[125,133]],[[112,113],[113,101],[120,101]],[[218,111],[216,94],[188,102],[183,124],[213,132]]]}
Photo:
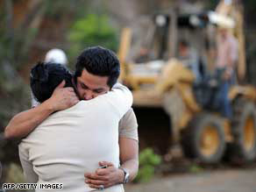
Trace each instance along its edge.
{"label": "beige short sleeve on the hugging man's upper arm", "polygon": [[119,137],[139,140],[137,118],[132,108],[119,121]]}

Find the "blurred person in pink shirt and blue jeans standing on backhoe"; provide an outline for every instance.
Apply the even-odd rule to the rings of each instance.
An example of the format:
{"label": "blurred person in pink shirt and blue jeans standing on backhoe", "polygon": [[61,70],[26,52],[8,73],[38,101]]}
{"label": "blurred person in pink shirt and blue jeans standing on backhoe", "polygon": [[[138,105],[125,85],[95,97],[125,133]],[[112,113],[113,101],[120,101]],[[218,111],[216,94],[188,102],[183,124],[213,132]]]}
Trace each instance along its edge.
{"label": "blurred person in pink shirt and blue jeans standing on backhoe", "polygon": [[235,66],[238,60],[238,41],[230,29],[220,27],[217,34],[216,75],[218,80],[217,103],[224,117],[231,118],[228,93],[235,82]]}

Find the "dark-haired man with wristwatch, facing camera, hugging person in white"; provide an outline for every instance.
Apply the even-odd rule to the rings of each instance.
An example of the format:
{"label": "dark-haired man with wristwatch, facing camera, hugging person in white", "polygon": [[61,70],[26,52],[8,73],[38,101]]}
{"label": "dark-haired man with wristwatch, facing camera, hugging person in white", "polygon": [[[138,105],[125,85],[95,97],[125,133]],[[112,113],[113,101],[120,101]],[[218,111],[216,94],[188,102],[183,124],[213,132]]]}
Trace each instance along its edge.
{"label": "dark-haired man with wristwatch, facing camera, hugging person in white", "polygon": [[[92,68],[93,66],[93,68]],[[120,65],[117,57],[108,49],[96,46],[84,50],[78,57],[75,84],[80,99],[89,100],[107,93],[117,82]],[[65,82],[54,89],[53,96],[39,106],[13,117],[5,129],[6,138],[25,137],[54,111],[65,110],[79,102],[72,88],[64,88]],[[95,173],[86,173],[85,181],[91,188],[105,188],[119,182],[132,181],[139,167],[139,145],[137,121],[133,110],[128,110],[119,122],[119,146],[121,167],[101,161]]]}

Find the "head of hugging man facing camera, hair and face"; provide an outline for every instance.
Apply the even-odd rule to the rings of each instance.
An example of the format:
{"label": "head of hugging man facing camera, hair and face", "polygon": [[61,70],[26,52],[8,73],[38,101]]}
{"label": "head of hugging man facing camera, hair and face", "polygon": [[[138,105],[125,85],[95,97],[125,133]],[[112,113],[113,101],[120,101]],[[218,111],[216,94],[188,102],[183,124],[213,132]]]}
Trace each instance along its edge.
{"label": "head of hugging man facing camera, hair and face", "polygon": [[[91,81],[91,75],[108,76],[107,84]],[[89,47],[83,51],[75,64],[75,83],[79,96],[85,100],[106,93],[117,82],[119,75],[120,63],[117,56],[100,46]]]}

